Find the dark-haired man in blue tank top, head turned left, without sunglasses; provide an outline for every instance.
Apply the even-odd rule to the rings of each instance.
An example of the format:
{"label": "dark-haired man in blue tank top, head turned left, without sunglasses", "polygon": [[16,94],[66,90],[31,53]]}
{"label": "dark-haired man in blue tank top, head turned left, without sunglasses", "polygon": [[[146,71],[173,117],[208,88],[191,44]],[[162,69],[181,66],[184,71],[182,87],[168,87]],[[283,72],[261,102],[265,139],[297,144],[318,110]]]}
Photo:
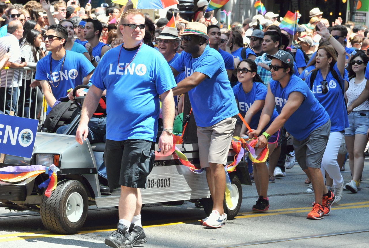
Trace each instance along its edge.
{"label": "dark-haired man in blue tank top, head turned left, without sunglasses", "polygon": [[101,57],[110,49],[108,44],[99,41],[102,31],[103,25],[99,20],[96,18],[88,18],[86,20],[85,29],[83,29],[83,38],[87,40],[85,47],[90,53],[91,63],[94,67],[99,64]]}

